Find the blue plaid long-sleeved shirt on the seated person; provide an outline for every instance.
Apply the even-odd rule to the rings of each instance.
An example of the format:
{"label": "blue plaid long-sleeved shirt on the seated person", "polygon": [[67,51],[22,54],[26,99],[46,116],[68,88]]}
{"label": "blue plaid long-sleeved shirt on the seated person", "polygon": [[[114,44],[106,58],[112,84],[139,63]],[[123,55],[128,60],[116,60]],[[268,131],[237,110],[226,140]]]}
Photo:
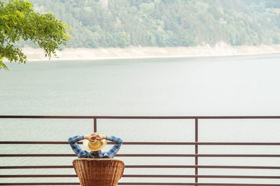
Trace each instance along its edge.
{"label": "blue plaid long-sleeved shirt on the seated person", "polygon": [[123,140],[121,138],[117,138],[116,136],[106,136],[106,140],[113,141],[115,143],[113,147],[107,151],[102,152],[100,151],[99,155],[94,156],[94,154],[91,151],[83,150],[80,148],[80,145],[78,145],[78,141],[81,141],[84,139],[84,136],[73,136],[68,138],[68,142],[71,145],[71,148],[73,152],[75,152],[77,157],[84,157],[84,158],[113,158],[116,157],[118,150],[120,149],[120,146],[123,144]]}

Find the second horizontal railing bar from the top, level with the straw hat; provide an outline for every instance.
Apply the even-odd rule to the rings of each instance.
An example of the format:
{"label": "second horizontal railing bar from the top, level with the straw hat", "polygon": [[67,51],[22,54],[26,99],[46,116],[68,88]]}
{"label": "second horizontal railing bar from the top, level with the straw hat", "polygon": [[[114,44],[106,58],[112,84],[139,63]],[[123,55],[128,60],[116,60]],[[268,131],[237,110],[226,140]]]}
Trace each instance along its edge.
{"label": "second horizontal railing bar from the top, level with the straw hat", "polygon": [[[1,144],[46,144],[68,145],[67,141],[0,141]],[[78,142],[83,144],[83,142]],[[113,145],[113,142],[107,144]],[[123,142],[123,145],[280,145],[280,143],[235,143],[235,142]]]}

